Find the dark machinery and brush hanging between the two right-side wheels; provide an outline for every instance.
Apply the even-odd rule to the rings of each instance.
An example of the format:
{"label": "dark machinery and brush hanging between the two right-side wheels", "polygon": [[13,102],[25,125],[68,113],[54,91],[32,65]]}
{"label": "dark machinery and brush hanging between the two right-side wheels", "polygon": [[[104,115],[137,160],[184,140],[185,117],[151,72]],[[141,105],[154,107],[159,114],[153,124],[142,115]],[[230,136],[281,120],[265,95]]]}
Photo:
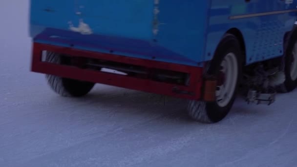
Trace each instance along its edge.
{"label": "dark machinery and brush hanging between the two right-side wheels", "polygon": [[277,88],[285,81],[279,61],[269,60],[246,66],[241,86],[248,104],[270,105],[275,102]]}

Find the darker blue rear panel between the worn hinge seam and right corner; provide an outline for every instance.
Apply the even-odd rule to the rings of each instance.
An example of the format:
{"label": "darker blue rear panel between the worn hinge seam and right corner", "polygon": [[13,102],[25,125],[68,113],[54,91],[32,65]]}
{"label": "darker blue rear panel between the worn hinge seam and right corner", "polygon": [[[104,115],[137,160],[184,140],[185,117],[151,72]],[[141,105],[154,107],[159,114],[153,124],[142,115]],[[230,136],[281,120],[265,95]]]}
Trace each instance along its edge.
{"label": "darker blue rear panel between the worn hinge seam and right corner", "polygon": [[209,0],[160,0],[157,43],[193,61],[203,61],[209,4]]}

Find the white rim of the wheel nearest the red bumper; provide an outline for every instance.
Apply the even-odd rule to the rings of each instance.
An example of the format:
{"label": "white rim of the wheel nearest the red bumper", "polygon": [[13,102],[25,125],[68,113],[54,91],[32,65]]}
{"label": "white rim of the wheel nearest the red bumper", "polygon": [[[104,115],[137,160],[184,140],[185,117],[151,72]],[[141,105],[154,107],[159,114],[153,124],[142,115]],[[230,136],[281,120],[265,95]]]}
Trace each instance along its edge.
{"label": "white rim of the wheel nearest the red bumper", "polygon": [[220,107],[225,107],[231,101],[238,77],[238,64],[234,53],[229,53],[225,56],[221,63],[222,69],[220,72],[224,73],[225,79],[222,85],[217,86],[216,102]]}

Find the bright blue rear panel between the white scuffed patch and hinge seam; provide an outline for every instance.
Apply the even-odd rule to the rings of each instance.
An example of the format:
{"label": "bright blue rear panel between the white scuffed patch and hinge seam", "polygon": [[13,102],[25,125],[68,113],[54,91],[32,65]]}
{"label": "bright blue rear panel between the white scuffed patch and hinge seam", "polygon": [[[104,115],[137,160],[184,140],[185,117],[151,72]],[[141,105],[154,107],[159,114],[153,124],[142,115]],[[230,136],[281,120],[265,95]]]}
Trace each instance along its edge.
{"label": "bright blue rear panel between the white scuffed patch and hinge seam", "polygon": [[151,40],[153,0],[77,0],[96,34]]}

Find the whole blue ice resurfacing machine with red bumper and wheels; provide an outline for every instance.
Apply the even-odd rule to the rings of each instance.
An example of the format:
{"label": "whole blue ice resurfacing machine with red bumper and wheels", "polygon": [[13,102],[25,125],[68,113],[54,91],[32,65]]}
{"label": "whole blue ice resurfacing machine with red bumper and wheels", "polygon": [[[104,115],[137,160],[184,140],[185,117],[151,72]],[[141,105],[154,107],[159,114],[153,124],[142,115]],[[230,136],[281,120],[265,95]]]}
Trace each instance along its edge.
{"label": "whole blue ice resurfacing machine with red bumper and wheels", "polygon": [[297,87],[296,20],[297,0],[31,0],[31,67],[62,96],[119,86],[215,123],[237,90],[272,104]]}

